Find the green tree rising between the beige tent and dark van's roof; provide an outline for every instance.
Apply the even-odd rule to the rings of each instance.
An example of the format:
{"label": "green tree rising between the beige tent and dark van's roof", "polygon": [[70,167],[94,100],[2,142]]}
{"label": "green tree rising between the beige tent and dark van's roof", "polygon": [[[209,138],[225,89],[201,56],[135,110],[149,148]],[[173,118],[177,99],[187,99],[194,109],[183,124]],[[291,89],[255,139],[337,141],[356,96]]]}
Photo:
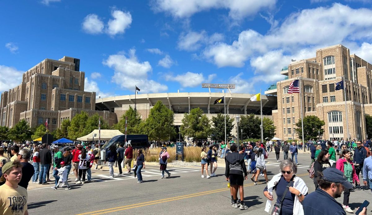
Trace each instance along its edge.
{"label": "green tree rising between the beige tent and dark van's roof", "polygon": [[138,134],[138,126],[141,123],[140,115],[129,105],[129,109],[121,116],[119,122],[113,126],[113,129],[118,129],[121,133],[125,132],[125,117],[128,117],[126,133]]}

